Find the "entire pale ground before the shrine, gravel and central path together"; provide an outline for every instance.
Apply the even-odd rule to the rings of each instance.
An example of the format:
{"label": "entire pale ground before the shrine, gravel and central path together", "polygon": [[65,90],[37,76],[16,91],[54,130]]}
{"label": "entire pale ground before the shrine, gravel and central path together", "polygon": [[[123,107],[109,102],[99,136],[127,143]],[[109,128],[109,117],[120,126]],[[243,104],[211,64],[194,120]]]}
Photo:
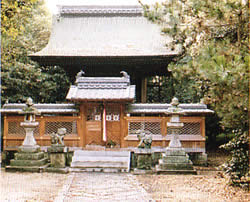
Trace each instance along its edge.
{"label": "entire pale ground before the shrine, gravel and central path together", "polygon": [[[162,202],[250,201],[248,192],[228,186],[227,178],[221,173],[205,173],[206,175],[133,176],[126,173],[6,173],[1,169],[0,201],[91,201],[87,195],[96,195],[97,199],[104,201],[113,201],[107,198],[108,195],[110,198],[115,197],[117,201],[122,195],[128,199],[123,201],[136,201],[133,200],[134,196],[143,198],[143,201],[150,201],[152,198]],[[126,191],[119,195],[119,190],[123,189]],[[140,194],[142,195],[139,196]]]}

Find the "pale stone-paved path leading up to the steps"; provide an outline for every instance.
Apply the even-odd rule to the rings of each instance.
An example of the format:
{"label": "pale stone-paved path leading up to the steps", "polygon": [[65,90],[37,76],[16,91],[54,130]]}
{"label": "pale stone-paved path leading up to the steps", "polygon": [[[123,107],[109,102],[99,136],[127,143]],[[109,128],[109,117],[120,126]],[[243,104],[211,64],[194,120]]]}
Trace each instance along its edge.
{"label": "pale stone-paved path leading up to the steps", "polygon": [[71,173],[56,202],[73,201],[154,201],[127,173]]}

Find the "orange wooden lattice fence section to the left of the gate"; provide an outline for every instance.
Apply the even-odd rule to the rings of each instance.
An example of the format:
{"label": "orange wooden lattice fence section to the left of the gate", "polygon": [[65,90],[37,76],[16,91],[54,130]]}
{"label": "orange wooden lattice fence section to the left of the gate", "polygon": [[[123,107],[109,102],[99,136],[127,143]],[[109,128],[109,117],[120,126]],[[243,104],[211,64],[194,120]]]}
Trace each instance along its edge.
{"label": "orange wooden lattice fence section to the left of the gate", "polygon": [[[74,116],[42,116],[37,117],[39,125],[34,130],[34,137],[41,146],[50,145],[50,134],[56,133],[58,128],[66,128],[67,133],[64,138],[65,145],[78,146],[80,137],[79,117]],[[4,119],[4,149],[16,149],[20,146],[25,137],[25,130],[20,126],[23,116],[8,116]]]}

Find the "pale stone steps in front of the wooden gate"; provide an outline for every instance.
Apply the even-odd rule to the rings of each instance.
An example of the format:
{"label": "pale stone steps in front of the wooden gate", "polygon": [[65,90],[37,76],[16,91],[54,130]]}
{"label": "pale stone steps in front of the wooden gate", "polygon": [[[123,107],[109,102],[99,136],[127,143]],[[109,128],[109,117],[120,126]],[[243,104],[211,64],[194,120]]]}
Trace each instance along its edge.
{"label": "pale stone steps in front of the wooden gate", "polygon": [[129,172],[130,151],[87,151],[74,152],[71,171],[81,172]]}

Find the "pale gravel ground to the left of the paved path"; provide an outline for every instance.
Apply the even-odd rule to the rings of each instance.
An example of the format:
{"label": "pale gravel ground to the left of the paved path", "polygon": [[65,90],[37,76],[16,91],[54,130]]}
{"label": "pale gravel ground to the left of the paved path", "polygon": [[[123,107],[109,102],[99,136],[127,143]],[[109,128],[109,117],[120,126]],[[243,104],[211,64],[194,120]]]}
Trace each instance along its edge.
{"label": "pale gravel ground to the left of the paved path", "polygon": [[52,202],[68,174],[0,172],[0,201]]}

